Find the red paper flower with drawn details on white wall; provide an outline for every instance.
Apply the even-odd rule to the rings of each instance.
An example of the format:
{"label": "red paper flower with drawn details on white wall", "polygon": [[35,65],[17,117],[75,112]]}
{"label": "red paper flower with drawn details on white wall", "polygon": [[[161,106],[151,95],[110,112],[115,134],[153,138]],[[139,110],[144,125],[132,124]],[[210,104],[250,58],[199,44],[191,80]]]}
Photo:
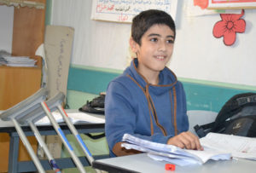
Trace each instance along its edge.
{"label": "red paper flower with drawn details on white wall", "polygon": [[245,32],[246,22],[240,19],[244,14],[220,14],[222,20],[218,21],[213,27],[214,37],[224,37],[224,44],[232,45],[236,41],[236,32]]}

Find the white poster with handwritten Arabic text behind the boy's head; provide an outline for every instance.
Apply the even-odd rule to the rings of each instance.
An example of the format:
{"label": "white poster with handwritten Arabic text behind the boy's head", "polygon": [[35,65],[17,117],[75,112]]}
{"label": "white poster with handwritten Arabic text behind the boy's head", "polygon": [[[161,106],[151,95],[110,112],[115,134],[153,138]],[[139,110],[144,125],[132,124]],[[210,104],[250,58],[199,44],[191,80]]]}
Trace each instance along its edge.
{"label": "white poster with handwritten Arabic text behind the boy's head", "polygon": [[147,9],[160,9],[176,18],[177,0],[93,0],[91,19],[131,23]]}

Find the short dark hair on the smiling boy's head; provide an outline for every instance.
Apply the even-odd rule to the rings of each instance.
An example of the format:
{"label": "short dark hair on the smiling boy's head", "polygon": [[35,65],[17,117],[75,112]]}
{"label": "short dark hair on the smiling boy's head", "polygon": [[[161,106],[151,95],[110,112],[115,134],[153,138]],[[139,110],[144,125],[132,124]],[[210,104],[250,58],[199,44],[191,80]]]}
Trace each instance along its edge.
{"label": "short dark hair on the smiling boy's head", "polygon": [[176,29],[171,15],[157,9],[148,9],[137,14],[137,16],[133,18],[131,25],[131,37],[135,42],[141,45],[141,38],[143,37],[143,34],[155,24],[169,26],[174,32],[175,39]]}

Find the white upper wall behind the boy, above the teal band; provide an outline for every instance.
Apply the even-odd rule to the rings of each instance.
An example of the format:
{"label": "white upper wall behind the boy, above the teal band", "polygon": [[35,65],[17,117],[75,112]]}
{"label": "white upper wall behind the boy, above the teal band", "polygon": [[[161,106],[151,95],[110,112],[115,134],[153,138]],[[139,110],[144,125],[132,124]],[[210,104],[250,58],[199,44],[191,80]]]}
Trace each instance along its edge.
{"label": "white upper wall behind the boy, above the teal band", "polygon": [[[177,77],[256,86],[256,11],[246,9],[246,32],[236,34],[236,43],[225,46],[212,36],[219,14],[188,17],[179,0],[177,40],[170,67]],[[124,69],[127,65],[131,24],[90,20],[92,0],[54,0],[52,24],[73,26],[72,63]]]}

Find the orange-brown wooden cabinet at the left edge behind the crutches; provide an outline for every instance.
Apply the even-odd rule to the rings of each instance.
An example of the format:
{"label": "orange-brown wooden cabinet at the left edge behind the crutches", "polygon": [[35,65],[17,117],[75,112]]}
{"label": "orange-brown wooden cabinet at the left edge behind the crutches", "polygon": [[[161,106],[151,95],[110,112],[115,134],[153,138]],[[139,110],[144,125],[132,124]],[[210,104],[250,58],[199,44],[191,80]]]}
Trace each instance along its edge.
{"label": "orange-brown wooden cabinet at the left edge behind the crutches", "polygon": [[[46,0],[31,1],[46,3]],[[39,45],[44,43],[44,20],[45,8],[15,8],[12,55],[30,56],[37,59],[38,67],[0,66],[0,110],[14,106],[40,89],[42,60],[35,55],[35,52]],[[32,137],[29,141],[36,150],[36,139]],[[29,159],[30,157],[23,144],[20,144],[20,147],[19,159]],[[0,134],[0,153],[0,172],[7,172],[9,158],[8,134]]]}

